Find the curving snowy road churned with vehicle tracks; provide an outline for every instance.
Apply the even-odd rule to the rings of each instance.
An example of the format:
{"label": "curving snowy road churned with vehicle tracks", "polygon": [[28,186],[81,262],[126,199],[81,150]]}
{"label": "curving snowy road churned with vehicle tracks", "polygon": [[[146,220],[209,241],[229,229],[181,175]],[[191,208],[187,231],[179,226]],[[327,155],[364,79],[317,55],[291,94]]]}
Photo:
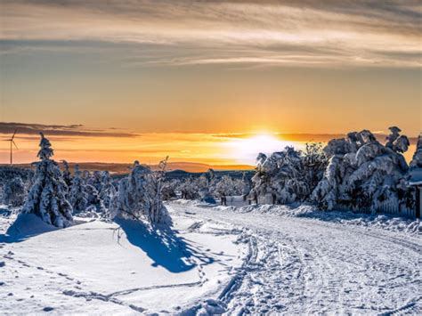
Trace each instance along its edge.
{"label": "curving snowy road churned with vehicle tracks", "polygon": [[171,208],[198,226],[231,223],[248,235],[248,260],[220,297],[228,314],[422,313],[419,237],[305,218]]}

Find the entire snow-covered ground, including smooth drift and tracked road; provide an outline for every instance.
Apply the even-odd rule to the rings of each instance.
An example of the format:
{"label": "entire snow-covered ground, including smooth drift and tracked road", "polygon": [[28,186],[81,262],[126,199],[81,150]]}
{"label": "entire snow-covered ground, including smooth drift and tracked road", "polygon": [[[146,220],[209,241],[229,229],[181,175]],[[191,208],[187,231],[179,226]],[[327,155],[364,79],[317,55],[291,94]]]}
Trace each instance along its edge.
{"label": "entire snow-covered ground, including smooth drift and tracked road", "polygon": [[[422,313],[417,221],[311,207],[167,207],[175,227],[161,238],[100,221],[0,235],[0,311]],[[0,234],[11,221],[1,219]]]}

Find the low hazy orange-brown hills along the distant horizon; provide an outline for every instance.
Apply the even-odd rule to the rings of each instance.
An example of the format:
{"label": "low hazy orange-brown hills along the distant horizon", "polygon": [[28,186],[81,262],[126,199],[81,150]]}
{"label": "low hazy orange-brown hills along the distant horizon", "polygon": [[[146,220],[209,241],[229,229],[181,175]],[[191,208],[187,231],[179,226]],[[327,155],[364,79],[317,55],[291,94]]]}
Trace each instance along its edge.
{"label": "low hazy orange-brown hills along the distant horizon", "polygon": [[[130,166],[132,164],[114,164],[114,163],[102,163],[102,162],[80,162],[73,163],[69,162],[70,169],[78,164],[82,170],[108,170],[112,174],[127,174],[129,172]],[[0,166],[10,166],[10,165],[0,165]],[[31,164],[16,164],[13,165],[16,167],[30,168]],[[156,169],[157,165],[150,166],[152,169]],[[228,171],[228,170],[252,170],[254,166],[248,165],[207,165],[196,162],[169,162],[167,164],[167,170],[183,170],[188,173],[203,173],[206,172],[209,168],[214,169],[215,171]]]}

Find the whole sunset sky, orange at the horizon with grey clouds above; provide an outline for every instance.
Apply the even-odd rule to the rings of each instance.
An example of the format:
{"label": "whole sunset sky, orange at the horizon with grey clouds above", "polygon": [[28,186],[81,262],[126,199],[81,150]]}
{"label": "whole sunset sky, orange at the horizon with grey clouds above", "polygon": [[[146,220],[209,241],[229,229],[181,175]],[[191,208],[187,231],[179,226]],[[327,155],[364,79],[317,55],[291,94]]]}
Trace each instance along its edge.
{"label": "whole sunset sky, orange at the horizon with grey clouds above", "polygon": [[213,164],[363,128],[415,137],[421,18],[411,0],[2,0],[0,136],[20,127],[16,162],[42,129],[71,161]]}

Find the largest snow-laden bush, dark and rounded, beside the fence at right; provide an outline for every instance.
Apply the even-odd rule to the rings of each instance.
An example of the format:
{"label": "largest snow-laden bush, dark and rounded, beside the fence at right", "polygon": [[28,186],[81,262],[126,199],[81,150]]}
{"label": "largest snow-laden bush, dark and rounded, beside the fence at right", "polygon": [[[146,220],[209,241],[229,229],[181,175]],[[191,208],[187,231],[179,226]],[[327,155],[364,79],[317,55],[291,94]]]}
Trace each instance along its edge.
{"label": "largest snow-laden bush, dark and rounded, beside the fence at right", "polygon": [[329,166],[312,199],[327,209],[342,205],[375,212],[381,203],[403,198],[408,166],[402,153],[408,150],[409,140],[398,127],[390,131],[385,145],[368,130],[330,141],[324,148]]}

